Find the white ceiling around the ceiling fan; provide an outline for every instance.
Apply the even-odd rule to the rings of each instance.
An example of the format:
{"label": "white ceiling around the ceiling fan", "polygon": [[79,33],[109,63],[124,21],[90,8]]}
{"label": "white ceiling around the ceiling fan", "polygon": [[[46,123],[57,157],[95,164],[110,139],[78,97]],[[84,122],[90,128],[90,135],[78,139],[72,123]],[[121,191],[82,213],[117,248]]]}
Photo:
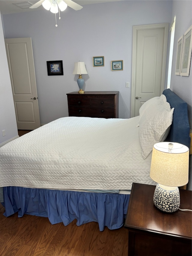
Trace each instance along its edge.
{"label": "white ceiling around the ceiling fan", "polygon": [[[22,9],[14,5],[16,3],[21,3],[21,2],[29,2],[34,5],[38,1],[39,0],[0,0],[0,11],[1,11],[1,14],[11,14],[11,13],[26,12],[26,11],[43,10],[44,8],[42,7],[42,5],[38,7],[38,9],[29,9],[29,8]],[[105,2],[116,2],[116,1],[120,1],[120,0],[74,0],[73,2],[76,2],[77,4],[83,6],[83,5],[105,3]]]}

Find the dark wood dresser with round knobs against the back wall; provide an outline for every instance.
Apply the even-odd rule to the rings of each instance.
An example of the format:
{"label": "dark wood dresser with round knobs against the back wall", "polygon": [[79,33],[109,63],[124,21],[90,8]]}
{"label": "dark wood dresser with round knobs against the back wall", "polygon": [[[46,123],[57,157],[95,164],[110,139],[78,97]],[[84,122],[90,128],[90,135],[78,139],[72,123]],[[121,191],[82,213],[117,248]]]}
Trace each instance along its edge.
{"label": "dark wood dresser with round knobs against the back wall", "polygon": [[119,92],[67,93],[69,116],[119,117]]}

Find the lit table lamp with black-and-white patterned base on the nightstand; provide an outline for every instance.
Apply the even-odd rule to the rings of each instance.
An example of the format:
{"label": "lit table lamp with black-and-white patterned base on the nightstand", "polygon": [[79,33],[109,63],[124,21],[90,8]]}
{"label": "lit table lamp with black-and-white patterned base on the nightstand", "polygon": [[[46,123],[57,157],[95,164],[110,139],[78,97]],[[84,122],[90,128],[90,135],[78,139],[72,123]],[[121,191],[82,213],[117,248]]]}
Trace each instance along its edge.
{"label": "lit table lamp with black-and-white patterned base on the nightstand", "polygon": [[180,143],[160,142],[153,146],[150,177],[157,182],[153,202],[163,212],[176,212],[180,206],[180,186],[189,173],[189,149]]}

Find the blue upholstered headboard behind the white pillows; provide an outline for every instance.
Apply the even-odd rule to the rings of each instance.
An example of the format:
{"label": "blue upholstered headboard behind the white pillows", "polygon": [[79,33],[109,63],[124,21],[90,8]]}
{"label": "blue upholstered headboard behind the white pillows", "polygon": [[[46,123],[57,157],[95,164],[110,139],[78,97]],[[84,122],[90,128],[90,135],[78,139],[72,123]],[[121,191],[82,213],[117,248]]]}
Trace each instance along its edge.
{"label": "blue upholstered headboard behind the white pillows", "polygon": [[178,142],[189,148],[190,126],[187,114],[187,103],[170,89],[164,90],[163,94],[166,96],[167,102],[169,102],[171,108],[175,108],[173,111],[173,122],[166,141]]}

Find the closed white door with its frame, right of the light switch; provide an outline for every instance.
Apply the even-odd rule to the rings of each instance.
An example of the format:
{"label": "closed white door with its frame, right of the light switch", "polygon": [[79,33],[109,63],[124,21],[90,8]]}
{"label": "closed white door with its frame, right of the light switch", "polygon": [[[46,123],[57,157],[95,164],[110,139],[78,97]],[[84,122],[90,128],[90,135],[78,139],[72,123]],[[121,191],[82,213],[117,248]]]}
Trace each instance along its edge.
{"label": "closed white door with its frame, right of the light switch", "polygon": [[133,27],[131,117],[165,86],[168,23]]}

